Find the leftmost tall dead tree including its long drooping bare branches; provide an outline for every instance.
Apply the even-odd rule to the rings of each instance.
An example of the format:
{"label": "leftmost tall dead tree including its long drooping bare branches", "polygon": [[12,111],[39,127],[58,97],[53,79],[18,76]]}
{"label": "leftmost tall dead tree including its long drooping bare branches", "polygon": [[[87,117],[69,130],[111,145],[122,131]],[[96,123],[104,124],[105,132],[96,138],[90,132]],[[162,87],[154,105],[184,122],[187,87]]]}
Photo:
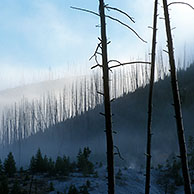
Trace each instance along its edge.
{"label": "leftmost tall dead tree including its long drooping bare branches", "polygon": [[[133,18],[130,17],[127,13],[123,12],[122,10],[118,8],[113,8],[108,5],[104,4],[104,0],[99,0],[99,13],[87,10],[87,9],[82,9],[82,8],[76,8],[76,7],[71,7],[76,10],[80,11],[85,11],[88,13],[91,13],[93,15],[99,16],[100,17],[100,26],[101,26],[101,38],[99,39],[99,43],[97,45],[97,48],[90,58],[95,59],[96,64],[91,68],[96,68],[100,67],[102,68],[103,72],[103,92],[97,92],[98,94],[102,95],[104,97],[104,109],[105,113],[101,113],[103,116],[105,116],[105,126],[106,126],[106,145],[107,145],[107,169],[108,169],[108,194],[114,194],[115,189],[114,189],[114,155],[119,155],[120,158],[120,151],[117,146],[113,144],[113,131],[112,131],[112,114],[111,114],[111,99],[110,99],[110,86],[109,86],[109,71],[111,71],[112,68],[119,67],[119,66],[124,66],[124,65],[129,65],[129,64],[150,64],[150,62],[144,62],[144,61],[135,61],[135,62],[127,62],[127,63],[121,63],[120,61],[117,60],[109,60],[108,61],[108,54],[107,54],[107,45],[110,43],[110,41],[107,41],[106,38],[106,21],[105,18],[109,18],[113,21],[116,21],[117,23],[123,25],[124,27],[128,28],[131,30],[141,41],[146,42],[143,40],[139,34],[131,28],[129,25],[123,23],[122,21],[118,20],[117,18],[114,18],[112,16],[106,15],[105,14],[105,9],[107,10],[114,10],[117,11],[121,14],[124,14],[126,17],[128,17],[132,22],[134,22]],[[101,51],[99,51],[101,49]],[[101,56],[102,58],[102,63],[100,64],[98,62],[98,56]],[[110,63],[116,63],[116,65],[110,66]],[[116,153],[114,153],[114,148],[116,149]]]}

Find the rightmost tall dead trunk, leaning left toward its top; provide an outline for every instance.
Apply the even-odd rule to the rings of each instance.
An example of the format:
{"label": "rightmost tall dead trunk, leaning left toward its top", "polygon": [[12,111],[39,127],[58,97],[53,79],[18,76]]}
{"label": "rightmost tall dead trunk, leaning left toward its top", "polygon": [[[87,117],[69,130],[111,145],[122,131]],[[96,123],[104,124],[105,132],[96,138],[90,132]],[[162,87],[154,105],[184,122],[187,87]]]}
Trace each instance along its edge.
{"label": "rightmost tall dead trunk, leaning left toward its top", "polygon": [[182,164],[182,173],[184,178],[184,190],[186,194],[191,194],[192,189],[191,189],[191,181],[190,181],[189,169],[188,169],[187,151],[186,151],[186,145],[185,145],[184,127],[183,127],[183,120],[182,120],[178,82],[177,82],[177,76],[176,76],[173,41],[172,41],[167,0],[163,0],[163,6],[164,6],[164,16],[165,16],[165,24],[166,24],[166,35],[167,35],[167,42],[168,42],[168,54],[169,54],[169,63],[170,63],[170,72],[171,72],[171,85],[172,85],[172,93],[173,93],[173,100],[174,100],[174,110],[175,110],[175,118],[176,118],[176,125],[177,125],[180,158],[181,158],[181,164]]}

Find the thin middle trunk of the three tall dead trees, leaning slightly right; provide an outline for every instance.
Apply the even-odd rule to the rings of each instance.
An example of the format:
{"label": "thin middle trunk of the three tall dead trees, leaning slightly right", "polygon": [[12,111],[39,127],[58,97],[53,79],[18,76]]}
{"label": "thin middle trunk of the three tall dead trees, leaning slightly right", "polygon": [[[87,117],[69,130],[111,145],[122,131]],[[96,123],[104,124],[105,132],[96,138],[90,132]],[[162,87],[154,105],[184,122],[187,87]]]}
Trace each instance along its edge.
{"label": "thin middle trunk of the three tall dead trees, leaning slightly right", "polygon": [[146,152],[146,157],[147,158],[146,158],[145,194],[149,194],[150,193],[151,138],[152,138],[151,124],[152,124],[153,87],[154,87],[154,77],[155,77],[157,11],[158,11],[158,0],[155,0],[155,4],[154,4],[154,20],[153,20],[151,74],[150,74],[150,88],[149,88],[149,98],[148,98],[147,152]]}

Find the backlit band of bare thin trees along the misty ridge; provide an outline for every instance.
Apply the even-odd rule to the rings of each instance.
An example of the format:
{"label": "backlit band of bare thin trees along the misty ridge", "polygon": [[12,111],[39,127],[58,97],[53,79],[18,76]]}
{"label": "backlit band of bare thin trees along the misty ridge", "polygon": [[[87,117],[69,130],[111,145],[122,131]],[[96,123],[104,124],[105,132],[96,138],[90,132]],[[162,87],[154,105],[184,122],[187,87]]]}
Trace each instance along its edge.
{"label": "backlit band of bare thin trees along the misty ridge", "polygon": [[[156,80],[166,76],[161,60]],[[150,65],[136,64],[112,71],[110,77],[111,98],[121,97],[149,80]],[[65,85],[65,84],[64,84]],[[103,102],[102,75],[79,77],[65,86],[60,93],[48,92],[39,99],[29,101],[25,97],[12,106],[5,107],[0,125],[2,145],[21,141],[39,131],[45,131],[59,122],[80,115]]]}

